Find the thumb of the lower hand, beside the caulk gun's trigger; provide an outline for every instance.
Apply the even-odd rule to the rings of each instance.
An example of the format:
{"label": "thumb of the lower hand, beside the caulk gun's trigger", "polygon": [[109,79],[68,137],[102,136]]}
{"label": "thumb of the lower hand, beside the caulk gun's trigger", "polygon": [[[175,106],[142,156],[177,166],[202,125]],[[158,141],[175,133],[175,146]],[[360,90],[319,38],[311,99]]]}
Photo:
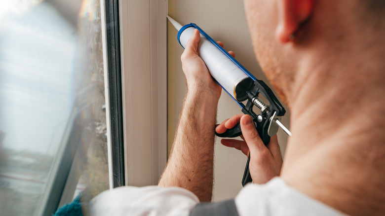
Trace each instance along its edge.
{"label": "thumb of the lower hand, beside the caulk gun's trigger", "polygon": [[250,149],[250,153],[253,156],[258,156],[261,152],[265,152],[265,150],[267,150],[267,147],[259,137],[254,121],[250,115],[243,115],[241,117],[240,126],[243,138],[245,139],[245,142]]}

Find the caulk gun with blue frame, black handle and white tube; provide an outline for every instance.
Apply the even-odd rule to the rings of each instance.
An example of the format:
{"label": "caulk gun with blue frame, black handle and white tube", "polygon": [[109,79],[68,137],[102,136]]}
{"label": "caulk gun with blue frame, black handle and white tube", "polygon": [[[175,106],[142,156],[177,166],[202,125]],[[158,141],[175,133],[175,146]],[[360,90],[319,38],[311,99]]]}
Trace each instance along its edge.
{"label": "caulk gun with blue frame, black handle and white tube", "polygon": [[[274,136],[278,128],[282,128],[289,136],[290,131],[280,122],[285,114],[285,109],[279,103],[269,86],[262,80],[255,78],[241,64],[239,64],[226,50],[201,30],[196,24],[182,26],[171,17],[167,16],[178,32],[178,41],[185,48],[187,41],[192,36],[194,29],[200,32],[198,54],[206,64],[211,76],[221,85],[230,97],[242,108],[242,112],[253,118],[255,127],[263,143],[269,144],[270,137]],[[269,105],[258,96],[262,94]],[[247,100],[246,105],[241,102]],[[253,106],[261,109],[260,114],[253,111]],[[242,135],[240,124],[228,129],[218,137],[238,137]],[[251,182],[249,172],[250,154],[247,159],[242,185]]]}

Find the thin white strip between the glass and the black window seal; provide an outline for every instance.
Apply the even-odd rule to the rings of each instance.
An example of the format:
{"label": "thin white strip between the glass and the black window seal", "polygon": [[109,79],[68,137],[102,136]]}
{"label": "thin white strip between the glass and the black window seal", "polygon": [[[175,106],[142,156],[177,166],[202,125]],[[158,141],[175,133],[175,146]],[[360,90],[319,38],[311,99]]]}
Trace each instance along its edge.
{"label": "thin white strip between the glass and the black window seal", "polygon": [[106,39],[106,9],[105,0],[100,0],[100,17],[102,23],[102,46],[103,46],[103,71],[104,71],[104,95],[106,100],[106,124],[107,124],[107,153],[108,153],[108,179],[110,189],[113,189],[113,167],[112,167],[112,147],[111,147],[111,119],[110,119],[110,92],[108,85],[108,59],[107,59],[107,39]]}

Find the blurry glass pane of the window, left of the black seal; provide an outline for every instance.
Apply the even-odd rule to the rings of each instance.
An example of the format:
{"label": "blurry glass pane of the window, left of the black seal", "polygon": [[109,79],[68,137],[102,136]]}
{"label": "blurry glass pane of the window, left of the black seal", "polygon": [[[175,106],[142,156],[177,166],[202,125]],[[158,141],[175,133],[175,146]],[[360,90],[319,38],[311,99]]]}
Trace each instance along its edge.
{"label": "blurry glass pane of the window, left of the black seal", "polygon": [[87,202],[109,188],[100,2],[3,2],[1,215],[38,215],[64,152],[73,186],[58,193]]}

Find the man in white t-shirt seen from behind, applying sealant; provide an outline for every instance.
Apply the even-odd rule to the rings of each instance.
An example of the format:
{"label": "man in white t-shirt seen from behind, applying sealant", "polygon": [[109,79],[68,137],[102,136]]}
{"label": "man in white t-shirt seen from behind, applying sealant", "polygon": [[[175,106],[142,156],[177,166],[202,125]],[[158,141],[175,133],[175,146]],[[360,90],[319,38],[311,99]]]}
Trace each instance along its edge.
{"label": "man in white t-shirt seen from behind, applying sealant", "polygon": [[222,143],[251,153],[254,184],[219,204],[196,205],[211,200],[221,89],[197,55],[195,32],[182,55],[187,93],[159,187],[106,192],[94,213],[384,215],[384,8],[382,0],[245,0],[256,57],[290,108],[293,136],[281,169],[276,137],[265,146],[250,116],[220,124],[223,133],[240,121],[245,142]]}

